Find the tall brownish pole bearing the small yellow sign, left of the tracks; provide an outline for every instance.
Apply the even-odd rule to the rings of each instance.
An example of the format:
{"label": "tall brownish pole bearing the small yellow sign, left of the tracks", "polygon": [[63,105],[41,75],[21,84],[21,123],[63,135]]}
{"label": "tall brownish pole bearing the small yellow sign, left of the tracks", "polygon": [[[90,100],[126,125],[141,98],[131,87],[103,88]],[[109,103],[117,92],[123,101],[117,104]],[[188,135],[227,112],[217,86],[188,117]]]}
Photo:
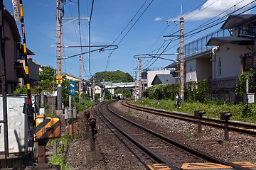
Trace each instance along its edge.
{"label": "tall brownish pole bearing the small yellow sign, left of the tracks", "polygon": [[[61,76],[61,11],[57,0],[57,76]],[[57,86],[57,110],[62,110],[62,86]]]}

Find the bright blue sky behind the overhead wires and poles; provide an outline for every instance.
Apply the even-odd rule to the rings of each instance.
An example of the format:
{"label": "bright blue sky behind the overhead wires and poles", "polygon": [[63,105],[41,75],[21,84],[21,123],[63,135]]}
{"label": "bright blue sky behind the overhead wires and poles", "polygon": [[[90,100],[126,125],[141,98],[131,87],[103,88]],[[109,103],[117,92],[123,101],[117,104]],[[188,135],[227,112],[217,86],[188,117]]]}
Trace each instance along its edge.
{"label": "bright blue sky behind the overhead wires and poles", "polygon": [[[139,11],[142,4],[146,0],[95,0],[91,20],[91,45],[110,45],[117,36],[124,30],[129,21]],[[134,27],[129,31],[127,36],[119,43],[119,48],[112,52],[110,62],[107,65],[109,52],[92,52],[90,60],[90,72],[103,72],[107,67],[107,71],[121,70],[129,72],[134,76],[134,69],[138,67],[139,62],[134,59],[134,55],[155,53],[164,42],[163,35],[170,35],[179,30],[174,22],[180,18],[180,5],[182,4],[182,13],[185,18],[184,30],[185,34],[188,31],[201,26],[210,18],[223,16],[231,11],[234,11],[252,0],[147,0],[142,10],[139,11],[134,20],[129,24],[126,30],[119,36],[113,45],[117,45],[124,37],[127,31],[137,21],[137,18],[146,9],[146,6],[151,5],[146,9],[144,14]],[[234,6],[237,4],[236,6]],[[4,0],[4,5],[10,13],[14,13],[11,0]],[[64,5],[64,17],[78,17],[78,0],[67,0]],[[89,17],[92,0],[80,0],[80,17]],[[251,4],[247,8],[255,6]],[[225,11],[230,8],[229,11]],[[245,11],[246,8],[236,12]],[[23,0],[24,21],[26,30],[27,47],[36,53],[33,60],[46,66],[57,67],[56,65],[56,1],[53,0]],[[225,13],[223,13],[225,11]],[[256,13],[255,8],[247,13]],[[178,23],[178,22],[177,22]],[[178,23],[179,24],[179,23]],[[88,45],[88,23],[87,20],[81,21],[82,45]],[[185,44],[200,38],[203,35],[213,32],[220,28],[221,24],[210,28],[202,33],[199,33],[185,41]],[[21,32],[21,24],[18,28]],[[78,21],[68,23],[63,20],[62,27],[62,42],[63,45],[80,45]],[[178,33],[176,33],[178,35]],[[170,41],[166,41],[165,45]],[[178,41],[172,40],[170,43],[171,49],[164,53],[175,53],[178,47]],[[159,50],[161,53],[164,48]],[[87,51],[83,48],[83,52]],[[152,52],[153,51],[153,52]],[[77,55],[80,53],[80,48],[65,48],[62,52],[62,57]],[[175,60],[176,56],[164,56],[171,60]],[[82,75],[90,75],[88,72],[88,55],[83,55]],[[142,60],[144,68],[148,67],[149,60]],[[171,62],[166,60],[157,60],[151,67],[166,67]],[[67,72],[75,76],[79,75],[78,57],[73,57],[62,61],[62,72]],[[89,77],[83,77],[88,79]]]}

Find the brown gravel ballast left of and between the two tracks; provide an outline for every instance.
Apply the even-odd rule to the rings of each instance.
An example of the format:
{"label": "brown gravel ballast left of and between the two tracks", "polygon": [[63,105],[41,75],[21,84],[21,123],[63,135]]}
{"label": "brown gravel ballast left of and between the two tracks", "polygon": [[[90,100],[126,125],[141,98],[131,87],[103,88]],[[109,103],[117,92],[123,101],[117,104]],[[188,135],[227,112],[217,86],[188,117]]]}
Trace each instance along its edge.
{"label": "brown gravel ballast left of and between the two tracks", "polygon": [[[157,132],[170,137],[177,142],[181,142],[193,149],[210,154],[218,159],[223,159],[227,162],[250,162],[256,164],[256,138],[250,135],[239,134],[238,132],[230,132],[230,140],[223,141],[224,131],[207,126],[202,126],[203,132],[206,134],[203,137],[195,137],[197,125],[187,123],[183,120],[173,118],[164,118],[159,115],[144,113],[141,111],[130,111],[137,117],[128,115],[127,108],[121,105],[120,102],[113,104],[115,111],[125,115],[128,118],[134,119],[139,123],[140,120],[146,121],[149,124],[154,124]],[[97,116],[95,116],[96,118]],[[75,129],[80,128],[80,132],[85,132],[85,119],[80,119],[75,125]],[[64,153],[68,159],[68,166],[75,169],[146,169],[143,162],[136,157],[138,153],[131,153],[125,147],[125,139],[119,136],[111,127],[107,127],[102,123],[100,118],[97,118],[97,134],[95,157],[97,160],[90,160],[92,153],[90,152],[90,137],[83,135],[76,138],[68,147],[68,152]],[[121,138],[119,141],[118,138]],[[216,141],[223,141],[219,142]]]}

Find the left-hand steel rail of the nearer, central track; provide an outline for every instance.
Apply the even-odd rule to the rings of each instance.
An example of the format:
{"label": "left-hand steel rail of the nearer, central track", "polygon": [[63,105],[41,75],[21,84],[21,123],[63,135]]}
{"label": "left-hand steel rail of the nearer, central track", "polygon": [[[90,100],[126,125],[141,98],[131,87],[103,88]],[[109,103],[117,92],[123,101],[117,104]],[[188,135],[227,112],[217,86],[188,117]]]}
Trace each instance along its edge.
{"label": "left-hand steel rail of the nearer, central track", "polygon": [[[114,101],[110,101],[108,103],[112,103]],[[131,142],[134,143],[134,145],[136,145],[137,147],[139,147],[139,149],[142,149],[142,151],[144,151],[146,154],[149,155],[149,157],[151,157],[152,159],[154,159],[156,162],[158,162],[159,164],[168,164],[172,169],[174,170],[178,170],[178,168],[176,166],[171,165],[169,162],[167,162],[166,160],[164,160],[163,158],[159,157],[159,155],[155,154],[154,152],[152,152],[150,149],[148,149],[147,147],[145,147],[144,145],[142,145],[140,142],[138,142],[137,140],[135,140],[132,136],[128,135],[127,132],[124,132],[121,128],[119,128],[117,125],[115,125],[114,123],[112,123],[112,121],[107,118],[105,115],[103,115],[102,111],[100,110],[100,107],[103,105],[104,103],[100,103],[98,110],[100,111],[101,115],[112,125],[114,126],[114,128],[116,128],[120,133],[122,133],[122,135],[124,135],[125,137],[127,137],[127,139],[129,139]]]}

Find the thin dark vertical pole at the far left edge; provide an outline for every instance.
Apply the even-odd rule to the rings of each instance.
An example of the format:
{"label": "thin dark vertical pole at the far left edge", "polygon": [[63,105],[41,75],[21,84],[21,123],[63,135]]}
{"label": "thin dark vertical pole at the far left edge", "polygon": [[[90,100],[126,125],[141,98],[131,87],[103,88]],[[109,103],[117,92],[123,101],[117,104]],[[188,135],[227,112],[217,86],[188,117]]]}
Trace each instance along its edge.
{"label": "thin dark vertical pole at the far left edge", "polygon": [[2,98],[3,98],[3,115],[4,115],[4,155],[5,159],[9,157],[9,143],[8,143],[8,117],[7,117],[7,100],[6,100],[6,62],[5,62],[5,45],[4,45],[4,4],[3,0],[0,1],[1,5],[1,22],[0,22],[0,41],[1,41],[1,87],[2,87]]}

